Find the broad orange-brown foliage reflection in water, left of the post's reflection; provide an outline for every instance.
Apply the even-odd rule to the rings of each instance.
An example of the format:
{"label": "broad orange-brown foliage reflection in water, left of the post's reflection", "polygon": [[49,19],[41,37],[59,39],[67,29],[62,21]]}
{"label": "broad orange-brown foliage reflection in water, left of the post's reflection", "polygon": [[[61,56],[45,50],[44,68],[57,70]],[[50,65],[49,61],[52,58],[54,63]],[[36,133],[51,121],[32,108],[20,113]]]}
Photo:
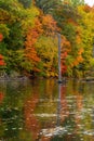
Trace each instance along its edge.
{"label": "broad orange-brown foliage reflection in water, left of the post's reflection", "polygon": [[24,114],[25,114],[25,127],[28,131],[31,131],[32,139],[37,139],[38,132],[40,132],[40,125],[36,118],[33,111],[38,103],[38,95],[35,94],[25,102]]}

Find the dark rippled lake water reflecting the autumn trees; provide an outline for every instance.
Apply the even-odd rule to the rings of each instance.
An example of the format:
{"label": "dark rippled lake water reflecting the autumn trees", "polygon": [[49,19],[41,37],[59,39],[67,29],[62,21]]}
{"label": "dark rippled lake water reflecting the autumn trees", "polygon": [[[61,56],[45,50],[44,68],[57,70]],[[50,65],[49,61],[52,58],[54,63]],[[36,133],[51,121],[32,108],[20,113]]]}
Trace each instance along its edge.
{"label": "dark rippled lake water reflecting the autumn trees", "polygon": [[0,141],[94,141],[94,84],[0,81]]}

